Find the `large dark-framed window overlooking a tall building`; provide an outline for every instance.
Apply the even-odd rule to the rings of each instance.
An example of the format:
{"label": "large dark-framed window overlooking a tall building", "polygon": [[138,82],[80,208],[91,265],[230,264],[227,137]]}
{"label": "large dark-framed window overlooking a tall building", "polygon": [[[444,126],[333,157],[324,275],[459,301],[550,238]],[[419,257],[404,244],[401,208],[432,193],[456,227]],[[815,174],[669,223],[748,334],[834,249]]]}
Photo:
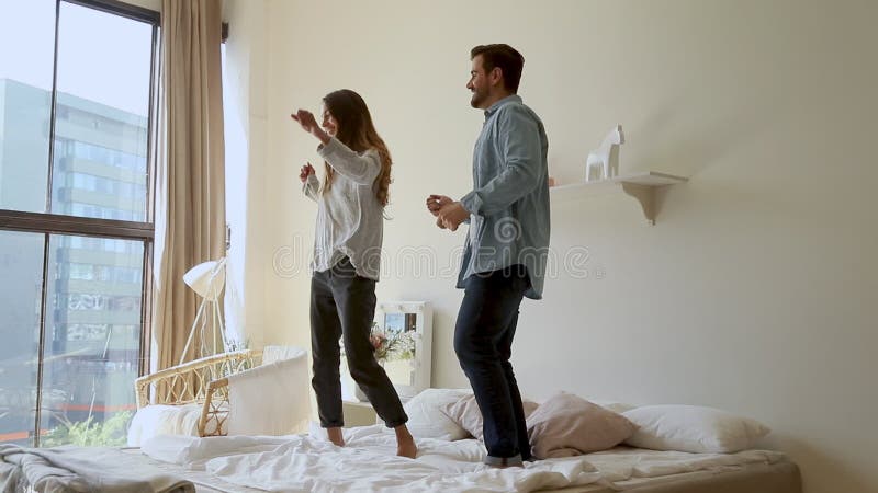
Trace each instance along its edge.
{"label": "large dark-framed window overlooking a tall building", "polygon": [[148,360],[158,13],[0,0],[0,443],[112,444]]}

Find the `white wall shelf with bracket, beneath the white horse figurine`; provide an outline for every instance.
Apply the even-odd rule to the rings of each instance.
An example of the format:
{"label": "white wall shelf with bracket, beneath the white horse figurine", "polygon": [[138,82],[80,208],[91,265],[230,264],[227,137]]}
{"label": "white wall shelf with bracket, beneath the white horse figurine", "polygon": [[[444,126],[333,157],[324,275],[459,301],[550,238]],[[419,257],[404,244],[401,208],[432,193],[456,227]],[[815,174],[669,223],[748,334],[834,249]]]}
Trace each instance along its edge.
{"label": "white wall shelf with bracket, beneath the white horse figurine", "polygon": [[637,198],[643,209],[646,221],[649,221],[650,225],[655,225],[655,215],[657,214],[655,191],[658,187],[685,183],[687,181],[688,179],[686,177],[675,176],[673,174],[641,171],[614,176],[609,180],[553,186],[549,188],[549,196],[553,203],[564,203],[585,198],[589,195],[621,190],[627,195]]}

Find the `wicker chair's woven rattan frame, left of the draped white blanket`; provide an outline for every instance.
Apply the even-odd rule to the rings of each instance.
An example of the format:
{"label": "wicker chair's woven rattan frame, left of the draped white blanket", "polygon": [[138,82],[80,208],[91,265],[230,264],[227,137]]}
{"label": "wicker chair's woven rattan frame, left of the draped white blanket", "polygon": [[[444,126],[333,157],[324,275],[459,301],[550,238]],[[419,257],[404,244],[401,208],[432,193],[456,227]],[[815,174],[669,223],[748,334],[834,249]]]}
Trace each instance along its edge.
{"label": "wicker chair's woven rattan frame, left of the draped white blanket", "polygon": [[[244,349],[177,365],[134,381],[137,409],[149,404],[202,404],[199,436],[224,436],[228,417],[228,377],[259,366],[262,352]],[[149,399],[149,393],[153,399]]]}

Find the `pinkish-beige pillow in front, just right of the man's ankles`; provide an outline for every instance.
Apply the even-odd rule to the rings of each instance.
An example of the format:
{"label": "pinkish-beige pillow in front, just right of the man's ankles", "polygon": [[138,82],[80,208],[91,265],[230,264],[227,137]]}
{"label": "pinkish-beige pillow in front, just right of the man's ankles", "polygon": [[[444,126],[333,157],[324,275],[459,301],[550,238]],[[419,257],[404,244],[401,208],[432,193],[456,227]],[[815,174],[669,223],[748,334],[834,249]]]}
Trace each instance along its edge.
{"label": "pinkish-beige pillow in front, just right of the man's ankles", "polygon": [[565,392],[549,398],[528,417],[530,445],[540,459],[606,450],[635,429],[621,414]]}

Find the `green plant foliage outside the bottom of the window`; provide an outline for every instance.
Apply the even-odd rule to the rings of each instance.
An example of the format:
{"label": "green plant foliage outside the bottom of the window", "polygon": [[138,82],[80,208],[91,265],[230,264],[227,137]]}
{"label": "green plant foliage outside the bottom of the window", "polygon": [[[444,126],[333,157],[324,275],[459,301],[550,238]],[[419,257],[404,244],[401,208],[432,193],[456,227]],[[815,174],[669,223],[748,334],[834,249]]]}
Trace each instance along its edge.
{"label": "green plant foliage outside the bottom of the window", "polygon": [[123,411],[102,422],[95,422],[94,416],[89,416],[86,421],[80,422],[65,420],[42,437],[40,445],[43,447],[125,445],[132,416],[134,416],[132,411]]}

